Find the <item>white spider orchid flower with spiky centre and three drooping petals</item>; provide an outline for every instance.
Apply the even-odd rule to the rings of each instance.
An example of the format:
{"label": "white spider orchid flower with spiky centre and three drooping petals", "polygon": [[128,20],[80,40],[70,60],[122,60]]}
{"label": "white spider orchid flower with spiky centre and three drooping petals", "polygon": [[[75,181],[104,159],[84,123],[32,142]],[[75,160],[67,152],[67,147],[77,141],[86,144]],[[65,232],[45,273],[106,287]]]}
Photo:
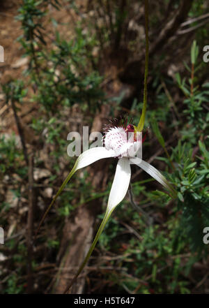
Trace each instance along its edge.
{"label": "white spider orchid flower with spiky centre and three drooping petals", "polygon": [[[130,138],[127,138],[127,135],[131,134]],[[109,128],[105,135],[104,135],[104,147],[93,147],[91,149],[86,150],[83,152],[75,162],[75,166],[70,171],[68,177],[65,179],[63,184],[61,185],[59,191],[56,193],[56,196],[52,200],[52,203],[49,205],[47,212],[49,212],[49,209],[52,207],[54,201],[59,196],[61,191],[63,191],[65,185],[68,183],[72,175],[79,170],[86,166],[91,165],[91,163],[94,163],[95,161],[98,161],[100,159],[107,159],[110,157],[118,158],[118,163],[116,166],[116,173],[114,175],[114,181],[111,185],[111,191],[109,193],[109,199],[107,203],[107,210],[104,215],[104,219],[100,225],[100,228],[98,230],[98,233],[95,236],[95,239],[93,241],[93,244],[91,245],[91,248],[88,251],[88,254],[86,258],[84,259],[84,262],[82,263],[81,267],[79,268],[75,278],[72,280],[72,283],[70,286],[72,286],[75,279],[77,279],[80,272],[82,272],[82,269],[86,265],[88,258],[91,256],[91,253],[95,247],[95,244],[98,242],[98,239],[102,233],[102,230],[104,229],[104,226],[106,225],[111,212],[116,208],[116,206],[121,203],[121,201],[125,198],[125,195],[127,193],[127,189],[130,184],[130,177],[131,177],[131,168],[130,164],[134,163],[137,166],[139,166],[141,169],[145,170],[146,173],[148,173],[151,177],[157,180],[162,186],[164,186],[171,195],[175,194],[175,191],[171,184],[167,182],[167,179],[153,166],[151,166],[146,161],[143,161],[136,156],[134,156],[138,149],[141,147],[141,133],[135,133],[134,126],[132,124],[128,124],[125,126],[113,126]],[[138,138],[140,136],[140,138]],[[44,217],[42,217],[42,220],[40,221],[40,224],[45,219],[45,216],[47,215],[47,212],[45,212]],[[40,226],[40,225],[39,225]],[[39,228],[38,228],[39,230]],[[37,231],[38,232],[38,231]],[[68,289],[70,288],[68,287]]]}

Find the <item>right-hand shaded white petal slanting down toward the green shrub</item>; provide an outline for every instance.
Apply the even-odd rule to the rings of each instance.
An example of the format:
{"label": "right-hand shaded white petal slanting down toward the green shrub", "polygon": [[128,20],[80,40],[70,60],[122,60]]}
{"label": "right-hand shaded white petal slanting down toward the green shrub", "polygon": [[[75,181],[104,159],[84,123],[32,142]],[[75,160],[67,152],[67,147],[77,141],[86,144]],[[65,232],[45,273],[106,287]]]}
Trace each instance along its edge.
{"label": "right-hand shaded white petal slanting down toward the green shrub", "polygon": [[151,177],[156,179],[157,182],[162,184],[162,186],[164,186],[171,193],[171,196],[173,198],[176,197],[176,191],[175,189],[173,189],[173,186],[171,186],[171,184],[169,184],[164,175],[162,175],[160,171],[158,171],[155,167],[150,165],[150,163],[147,163],[142,159],[138,159],[137,157],[130,159],[130,161],[132,161],[132,163],[134,163],[135,165],[139,166],[141,169],[146,171],[146,173],[148,173]]}

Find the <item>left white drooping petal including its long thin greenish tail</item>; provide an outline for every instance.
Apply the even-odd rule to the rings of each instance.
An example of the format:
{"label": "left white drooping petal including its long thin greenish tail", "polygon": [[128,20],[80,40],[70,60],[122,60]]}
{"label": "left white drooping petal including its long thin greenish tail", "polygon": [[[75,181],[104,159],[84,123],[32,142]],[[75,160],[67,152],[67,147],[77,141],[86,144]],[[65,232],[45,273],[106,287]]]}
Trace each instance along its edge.
{"label": "left white drooping petal including its long thin greenish tail", "polygon": [[[52,200],[52,203],[50,203],[50,205],[47,208],[45,214],[43,215],[43,217],[42,217],[42,219],[39,223],[38,229],[36,231],[36,235],[37,235],[38,231],[40,230],[40,226],[42,225],[42,222],[45,220],[47,213],[51,209],[51,207],[54,204],[56,198],[58,198],[58,196],[61,194],[61,192],[65,188],[66,184],[68,184],[72,175],[74,175],[74,173],[77,170],[82,169],[86,166],[89,166],[89,165],[91,165],[91,163],[94,163],[95,161],[98,161],[99,159],[106,159],[106,158],[114,157],[114,156],[115,156],[115,152],[111,149],[107,150],[105,147],[93,147],[91,149],[87,149],[85,152],[83,152],[81,155],[79,155],[79,157],[77,158],[77,161],[75,162],[74,167],[72,168],[72,170],[68,174],[68,177],[66,177],[66,179],[64,180],[63,184],[61,184],[59,191],[57,191],[56,196]],[[36,235],[35,235],[35,238],[36,238]]]}

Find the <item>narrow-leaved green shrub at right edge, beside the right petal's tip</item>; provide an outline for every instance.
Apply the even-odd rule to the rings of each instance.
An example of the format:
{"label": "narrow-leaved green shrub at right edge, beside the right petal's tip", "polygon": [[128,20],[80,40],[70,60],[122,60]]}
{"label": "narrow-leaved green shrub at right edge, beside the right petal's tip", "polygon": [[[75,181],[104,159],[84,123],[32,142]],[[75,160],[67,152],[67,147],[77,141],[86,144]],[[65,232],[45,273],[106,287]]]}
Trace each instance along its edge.
{"label": "narrow-leaved green shrub at right edge, beside the right petal's tip", "polygon": [[[189,144],[178,143],[178,149],[173,151],[172,159],[178,163],[172,175],[178,189],[178,211],[180,212],[181,235],[186,235],[193,251],[206,249],[203,245],[203,228],[209,224],[208,215],[208,154],[204,145],[199,142],[201,159],[192,157]],[[201,149],[204,148],[204,152]],[[187,152],[187,157],[185,157]],[[202,162],[201,162],[202,161]]]}

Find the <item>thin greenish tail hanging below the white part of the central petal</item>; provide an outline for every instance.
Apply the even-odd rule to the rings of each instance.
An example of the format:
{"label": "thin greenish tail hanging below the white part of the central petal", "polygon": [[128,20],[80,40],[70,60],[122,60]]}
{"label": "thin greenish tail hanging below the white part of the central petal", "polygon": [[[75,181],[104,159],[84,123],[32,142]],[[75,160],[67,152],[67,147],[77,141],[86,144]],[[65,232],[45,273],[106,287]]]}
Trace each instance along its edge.
{"label": "thin greenish tail hanging below the white part of the central petal", "polygon": [[72,279],[72,281],[70,282],[70,284],[68,285],[68,287],[65,289],[64,294],[68,293],[68,291],[70,291],[70,288],[72,287],[72,284],[75,283],[77,277],[79,276],[79,274],[82,272],[82,270],[84,269],[86,263],[88,262],[88,259],[90,258],[93,249],[95,248],[95,245],[97,244],[100,235],[102,234],[102,231],[104,230],[104,226],[106,225],[107,221],[109,220],[109,217],[111,216],[111,213],[114,211],[114,209],[112,209],[111,211],[107,210],[104,218],[102,220],[102,223],[100,224],[100,228],[98,229],[98,233],[95,235],[95,239],[93,240],[93,243],[91,244],[90,249],[88,250],[88,254],[86,255],[86,258],[84,258],[84,261],[82,263],[82,265],[79,267],[79,270],[77,271],[77,273],[75,274],[75,277]]}

